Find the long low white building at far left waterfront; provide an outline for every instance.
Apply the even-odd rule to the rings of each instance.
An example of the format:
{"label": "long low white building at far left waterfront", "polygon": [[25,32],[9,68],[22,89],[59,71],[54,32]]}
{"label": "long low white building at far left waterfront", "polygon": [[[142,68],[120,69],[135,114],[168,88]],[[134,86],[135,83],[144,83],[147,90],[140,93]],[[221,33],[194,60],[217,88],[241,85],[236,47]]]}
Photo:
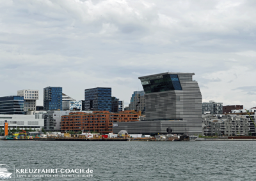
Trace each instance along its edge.
{"label": "long low white building at far left waterfront", "polygon": [[4,127],[4,120],[7,120],[10,129],[42,129],[44,119],[36,118],[36,115],[0,115],[0,127]]}

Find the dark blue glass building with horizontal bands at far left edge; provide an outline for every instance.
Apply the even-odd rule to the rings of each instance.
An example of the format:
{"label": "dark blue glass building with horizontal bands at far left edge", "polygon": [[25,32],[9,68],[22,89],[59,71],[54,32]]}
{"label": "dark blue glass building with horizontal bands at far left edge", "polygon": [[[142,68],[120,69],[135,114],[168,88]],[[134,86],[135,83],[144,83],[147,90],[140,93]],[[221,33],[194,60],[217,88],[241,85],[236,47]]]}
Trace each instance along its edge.
{"label": "dark blue glass building with horizontal bands at far left edge", "polygon": [[0,114],[24,114],[24,97],[7,96],[0,98]]}

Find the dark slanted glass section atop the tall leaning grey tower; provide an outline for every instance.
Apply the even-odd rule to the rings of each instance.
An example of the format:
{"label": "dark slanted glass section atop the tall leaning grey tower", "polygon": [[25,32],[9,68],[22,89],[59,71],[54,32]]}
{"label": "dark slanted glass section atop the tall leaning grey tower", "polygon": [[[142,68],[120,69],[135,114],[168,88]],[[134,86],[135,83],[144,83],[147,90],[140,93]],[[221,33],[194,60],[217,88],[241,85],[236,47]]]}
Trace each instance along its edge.
{"label": "dark slanted glass section atop the tall leaning grey tower", "polygon": [[143,86],[145,94],[152,92],[182,90],[179,76],[175,74],[141,78],[141,84]]}

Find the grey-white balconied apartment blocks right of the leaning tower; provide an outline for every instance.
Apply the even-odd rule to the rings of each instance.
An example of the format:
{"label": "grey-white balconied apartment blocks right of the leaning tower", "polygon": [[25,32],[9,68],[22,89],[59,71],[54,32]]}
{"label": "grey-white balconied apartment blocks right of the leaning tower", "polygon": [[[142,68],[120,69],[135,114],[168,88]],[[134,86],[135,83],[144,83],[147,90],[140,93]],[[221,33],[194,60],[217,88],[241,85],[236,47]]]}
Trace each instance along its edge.
{"label": "grey-white balconied apartment blocks right of the leaning tower", "polygon": [[249,119],[243,115],[225,115],[221,119],[211,117],[211,115],[203,116],[203,133],[205,136],[248,135],[249,132]]}

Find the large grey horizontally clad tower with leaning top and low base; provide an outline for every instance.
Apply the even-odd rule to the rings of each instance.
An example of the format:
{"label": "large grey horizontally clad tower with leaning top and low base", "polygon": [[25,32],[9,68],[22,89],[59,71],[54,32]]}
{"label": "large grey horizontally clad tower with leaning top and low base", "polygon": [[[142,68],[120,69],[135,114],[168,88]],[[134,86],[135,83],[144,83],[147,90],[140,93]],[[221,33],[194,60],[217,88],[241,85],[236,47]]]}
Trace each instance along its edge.
{"label": "large grey horizontally clad tower with leaning top and low base", "polygon": [[[139,127],[125,123],[125,130],[166,134],[170,126],[176,134],[202,134],[202,94],[193,75],[168,72],[139,77],[145,92],[146,119]],[[120,122],[113,133],[124,129],[125,124]],[[154,133],[156,130],[159,132]]]}

